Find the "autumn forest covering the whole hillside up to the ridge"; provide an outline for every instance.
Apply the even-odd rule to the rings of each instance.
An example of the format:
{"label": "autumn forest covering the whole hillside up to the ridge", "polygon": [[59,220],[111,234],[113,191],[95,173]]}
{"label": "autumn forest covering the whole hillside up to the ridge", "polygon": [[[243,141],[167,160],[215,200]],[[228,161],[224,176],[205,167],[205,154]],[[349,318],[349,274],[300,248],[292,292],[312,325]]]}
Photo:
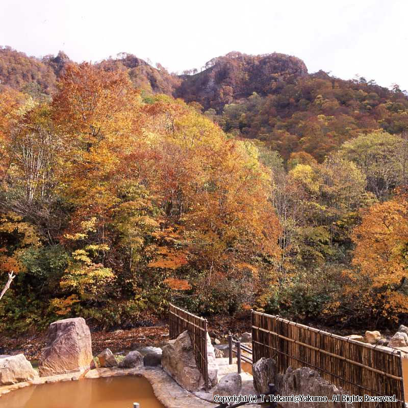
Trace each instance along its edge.
{"label": "autumn forest covering the whole hillside up to the ridge", "polygon": [[0,331],[170,301],[408,322],[407,95],[276,53],[176,74],[0,48]]}

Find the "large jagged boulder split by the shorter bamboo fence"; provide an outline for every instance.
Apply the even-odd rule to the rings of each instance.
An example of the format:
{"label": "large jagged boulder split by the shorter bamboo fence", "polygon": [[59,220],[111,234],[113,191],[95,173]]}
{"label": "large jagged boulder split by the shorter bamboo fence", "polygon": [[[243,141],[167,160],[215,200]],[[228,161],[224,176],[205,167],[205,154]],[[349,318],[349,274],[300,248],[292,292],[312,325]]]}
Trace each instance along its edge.
{"label": "large jagged boulder split by the shorter bamboo fence", "polygon": [[[211,386],[217,384],[217,363],[210,336],[207,337],[208,371]],[[193,346],[187,330],[163,347],[162,366],[180,386],[190,392],[205,387],[205,381],[197,368]]]}

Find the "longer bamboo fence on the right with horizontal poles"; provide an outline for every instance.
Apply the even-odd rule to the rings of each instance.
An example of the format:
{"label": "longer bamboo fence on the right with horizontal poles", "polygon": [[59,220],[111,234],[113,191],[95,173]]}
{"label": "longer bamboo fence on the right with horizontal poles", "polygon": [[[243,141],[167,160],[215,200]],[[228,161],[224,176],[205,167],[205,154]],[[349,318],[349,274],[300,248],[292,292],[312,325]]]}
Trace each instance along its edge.
{"label": "longer bamboo fence on the right with horizontal poles", "polygon": [[[404,406],[401,353],[361,343],[295,323],[277,316],[252,311],[252,359],[273,358],[277,372],[310,367],[349,395],[393,396],[399,402],[378,406]],[[377,403],[354,403],[374,407]]]}

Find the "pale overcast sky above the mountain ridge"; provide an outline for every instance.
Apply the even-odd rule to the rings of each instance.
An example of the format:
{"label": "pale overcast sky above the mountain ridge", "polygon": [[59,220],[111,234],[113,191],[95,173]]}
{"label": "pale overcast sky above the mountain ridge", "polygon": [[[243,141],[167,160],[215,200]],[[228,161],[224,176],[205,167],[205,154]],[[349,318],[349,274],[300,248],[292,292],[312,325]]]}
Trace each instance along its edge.
{"label": "pale overcast sky above the mountain ridge", "polygon": [[1,0],[0,45],[74,61],[118,53],[170,71],[230,51],[301,58],[343,79],[408,89],[408,0]]}

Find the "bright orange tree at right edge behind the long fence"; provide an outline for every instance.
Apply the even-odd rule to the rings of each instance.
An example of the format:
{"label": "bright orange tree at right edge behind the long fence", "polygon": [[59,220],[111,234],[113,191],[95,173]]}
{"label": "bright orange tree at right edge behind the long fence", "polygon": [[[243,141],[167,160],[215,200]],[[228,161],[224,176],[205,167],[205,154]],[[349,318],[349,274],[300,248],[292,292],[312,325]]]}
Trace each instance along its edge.
{"label": "bright orange tree at right edge behind the long fence", "polygon": [[[408,271],[408,201],[406,196],[378,203],[369,208],[361,225],[355,228],[353,265],[358,272],[353,281],[366,279],[373,311],[378,316],[397,319],[408,312],[405,292]],[[359,276],[360,275],[360,276]],[[368,286],[368,287],[367,287]]]}

